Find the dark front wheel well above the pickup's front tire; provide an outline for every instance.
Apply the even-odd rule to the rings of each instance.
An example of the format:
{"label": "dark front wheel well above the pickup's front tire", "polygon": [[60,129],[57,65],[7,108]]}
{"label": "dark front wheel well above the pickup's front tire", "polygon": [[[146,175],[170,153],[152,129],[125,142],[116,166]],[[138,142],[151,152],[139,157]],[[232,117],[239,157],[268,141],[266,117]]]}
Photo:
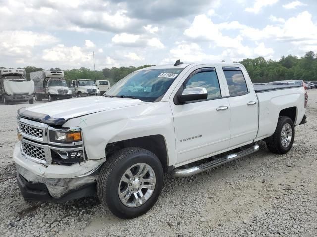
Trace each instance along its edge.
{"label": "dark front wheel well above the pickup's front tire", "polygon": [[105,148],[105,155],[117,152],[126,147],[140,147],[154,153],[161,162],[164,172],[168,171],[168,152],[166,141],[163,135],[150,135],[144,137],[137,137],[117,142],[108,143]]}

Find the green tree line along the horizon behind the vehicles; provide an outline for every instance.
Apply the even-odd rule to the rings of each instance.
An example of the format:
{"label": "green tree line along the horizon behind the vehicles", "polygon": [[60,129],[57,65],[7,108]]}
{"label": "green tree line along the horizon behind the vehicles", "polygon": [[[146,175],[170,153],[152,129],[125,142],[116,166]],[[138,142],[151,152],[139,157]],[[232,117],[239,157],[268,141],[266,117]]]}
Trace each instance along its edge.
{"label": "green tree line along the horizon behind the vehicles", "polygon": [[[252,82],[270,82],[276,80],[304,80],[317,81],[317,55],[313,51],[307,52],[303,57],[293,55],[283,56],[280,60],[265,60],[264,57],[255,59],[244,59],[239,63],[247,69]],[[140,67],[113,67],[102,70],[90,70],[88,68],[68,69],[65,71],[67,82],[75,79],[91,80],[110,80],[113,85],[120,79],[135,70],[149,67],[152,65],[143,65]],[[4,68],[4,67],[0,67]],[[24,67],[27,78],[30,79],[30,72],[43,70],[34,66]],[[60,68],[51,68],[50,70],[62,70]]]}

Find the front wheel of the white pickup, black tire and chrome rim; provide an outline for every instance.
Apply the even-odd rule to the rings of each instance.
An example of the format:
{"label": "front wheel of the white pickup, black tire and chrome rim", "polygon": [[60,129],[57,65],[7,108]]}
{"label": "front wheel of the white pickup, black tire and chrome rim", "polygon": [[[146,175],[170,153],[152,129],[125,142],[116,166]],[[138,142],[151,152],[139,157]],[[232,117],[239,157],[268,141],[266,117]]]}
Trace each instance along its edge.
{"label": "front wheel of the white pickup, black tire and chrome rim", "polygon": [[[140,167],[142,167],[142,165],[150,167],[149,171],[146,171],[147,173],[144,172],[145,175],[137,175],[136,173],[140,172],[138,165]],[[126,180],[129,180],[128,182],[130,183],[125,182],[123,176],[128,170],[132,171],[131,174],[136,174],[136,176],[132,176],[136,177],[135,181],[133,181],[132,177],[125,176]],[[141,178],[138,176],[141,176]],[[155,177],[154,186],[153,183],[149,182],[143,182],[143,185],[151,187],[150,189],[141,186],[142,182],[140,181],[145,181],[146,179],[153,180],[153,176]],[[137,184],[135,184],[135,182]],[[139,187],[141,188],[139,189]],[[162,187],[163,167],[159,158],[152,152],[143,148],[129,147],[114,153],[107,159],[106,163],[101,168],[97,180],[97,195],[102,205],[104,207],[107,206],[114,215],[123,219],[131,219],[146,213],[152,208],[159,198]],[[136,192],[136,194],[132,192],[133,188],[135,188],[134,192]],[[121,189],[130,190],[126,193],[125,197],[129,198],[127,198],[128,201],[126,201],[125,204],[119,197]],[[149,194],[148,191],[151,192],[151,194],[145,199],[147,194]],[[140,192],[144,192],[144,195],[142,194],[143,199],[139,195]],[[129,193],[131,196],[129,196]],[[139,201],[136,200],[136,196],[140,197],[140,199],[138,199]],[[132,206],[133,203],[138,203],[138,205]]]}

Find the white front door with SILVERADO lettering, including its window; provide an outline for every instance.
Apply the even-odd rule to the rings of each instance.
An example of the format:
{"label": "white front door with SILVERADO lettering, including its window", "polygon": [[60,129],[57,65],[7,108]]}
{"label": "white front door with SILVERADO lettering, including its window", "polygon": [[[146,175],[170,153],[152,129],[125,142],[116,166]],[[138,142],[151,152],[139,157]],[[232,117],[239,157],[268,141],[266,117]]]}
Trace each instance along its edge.
{"label": "white front door with SILVERADO lettering, including its window", "polygon": [[207,158],[212,153],[228,148],[230,142],[229,101],[215,67],[191,71],[177,93],[190,87],[204,87],[208,96],[205,100],[185,104],[175,104],[174,99],[170,101],[174,116],[177,165]]}

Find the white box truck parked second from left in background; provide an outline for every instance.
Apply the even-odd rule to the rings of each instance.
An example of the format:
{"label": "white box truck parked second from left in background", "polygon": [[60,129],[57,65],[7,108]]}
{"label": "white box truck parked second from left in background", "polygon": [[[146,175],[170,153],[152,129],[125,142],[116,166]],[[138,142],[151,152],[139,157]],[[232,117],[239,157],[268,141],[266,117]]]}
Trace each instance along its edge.
{"label": "white box truck parked second from left in background", "polygon": [[72,98],[72,92],[66,84],[63,71],[31,72],[30,78],[34,81],[36,101]]}

